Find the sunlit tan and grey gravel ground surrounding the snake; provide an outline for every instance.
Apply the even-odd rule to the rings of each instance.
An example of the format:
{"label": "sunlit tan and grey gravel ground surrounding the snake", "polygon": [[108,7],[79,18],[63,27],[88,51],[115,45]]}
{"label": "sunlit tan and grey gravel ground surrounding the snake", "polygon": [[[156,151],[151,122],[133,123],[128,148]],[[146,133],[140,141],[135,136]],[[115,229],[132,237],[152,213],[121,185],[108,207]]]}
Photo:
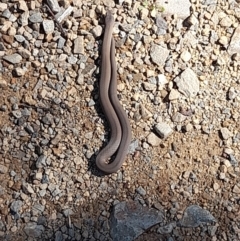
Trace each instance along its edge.
{"label": "sunlit tan and grey gravel ground surrounding the snake", "polygon": [[[0,239],[111,240],[112,207],[134,200],[168,225],[193,204],[216,219],[137,240],[240,240],[239,0],[50,2],[0,3]],[[95,167],[107,9],[133,135],[111,175]]]}

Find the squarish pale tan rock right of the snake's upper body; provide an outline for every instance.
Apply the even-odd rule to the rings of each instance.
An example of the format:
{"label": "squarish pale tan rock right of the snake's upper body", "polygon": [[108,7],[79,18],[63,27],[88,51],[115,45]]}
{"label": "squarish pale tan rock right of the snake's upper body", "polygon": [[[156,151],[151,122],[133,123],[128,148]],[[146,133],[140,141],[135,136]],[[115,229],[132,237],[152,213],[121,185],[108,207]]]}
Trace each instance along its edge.
{"label": "squarish pale tan rock right of the snake's upper body", "polygon": [[168,49],[163,48],[158,44],[152,44],[150,56],[152,58],[152,61],[155,64],[163,66],[165,64],[165,61],[168,55],[169,55]]}

